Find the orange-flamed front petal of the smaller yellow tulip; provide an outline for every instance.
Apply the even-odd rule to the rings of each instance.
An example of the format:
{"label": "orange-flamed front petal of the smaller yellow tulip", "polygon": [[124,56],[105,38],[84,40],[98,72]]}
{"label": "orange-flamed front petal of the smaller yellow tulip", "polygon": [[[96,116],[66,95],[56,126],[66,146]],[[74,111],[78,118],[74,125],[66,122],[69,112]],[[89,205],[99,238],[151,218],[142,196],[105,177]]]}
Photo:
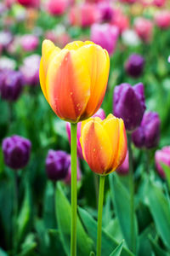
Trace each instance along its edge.
{"label": "orange-flamed front petal of the smaller yellow tulip", "polygon": [[101,119],[94,118],[82,124],[80,142],[83,156],[90,168],[94,172],[105,174],[108,163],[111,162],[112,149]]}

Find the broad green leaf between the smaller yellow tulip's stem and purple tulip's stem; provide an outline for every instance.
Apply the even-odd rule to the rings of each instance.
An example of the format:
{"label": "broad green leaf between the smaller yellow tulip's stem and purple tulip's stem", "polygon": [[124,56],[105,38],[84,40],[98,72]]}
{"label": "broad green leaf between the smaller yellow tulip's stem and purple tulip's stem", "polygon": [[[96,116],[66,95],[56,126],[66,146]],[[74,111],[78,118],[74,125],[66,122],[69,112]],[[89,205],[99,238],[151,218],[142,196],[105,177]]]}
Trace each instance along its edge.
{"label": "broad green leaf between the smaller yellow tulip's stem and purple tulip's stem", "polygon": [[[127,189],[122,185],[116,173],[114,175],[109,176],[110,186],[111,186],[111,196],[113,200],[113,204],[116,209],[116,216],[118,218],[122,235],[127,242],[128,247],[131,246],[131,226],[130,226],[130,219],[131,219],[131,209],[130,209],[130,196],[128,194]],[[133,225],[134,225],[134,238],[135,238],[135,245],[137,245],[137,238],[138,238],[138,228],[137,228],[137,218],[134,214],[133,218]]]}

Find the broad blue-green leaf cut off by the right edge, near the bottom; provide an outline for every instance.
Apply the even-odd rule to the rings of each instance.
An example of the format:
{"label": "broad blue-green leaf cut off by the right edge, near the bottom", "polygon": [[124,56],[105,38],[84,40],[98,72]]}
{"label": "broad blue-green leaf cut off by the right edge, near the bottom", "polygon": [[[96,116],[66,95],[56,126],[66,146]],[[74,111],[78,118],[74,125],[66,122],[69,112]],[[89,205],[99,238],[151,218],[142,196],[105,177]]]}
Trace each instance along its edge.
{"label": "broad blue-green leaf cut off by the right edge, near the bottom", "polygon": [[146,193],[146,202],[156,224],[156,230],[167,248],[170,248],[170,207],[160,188],[150,182]]}

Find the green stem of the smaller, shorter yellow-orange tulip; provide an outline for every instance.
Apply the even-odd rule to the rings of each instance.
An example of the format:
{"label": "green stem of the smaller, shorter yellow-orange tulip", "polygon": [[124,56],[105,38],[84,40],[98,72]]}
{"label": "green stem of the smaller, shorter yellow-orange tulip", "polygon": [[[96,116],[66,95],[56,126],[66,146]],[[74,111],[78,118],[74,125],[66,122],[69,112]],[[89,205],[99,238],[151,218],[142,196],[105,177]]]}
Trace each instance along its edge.
{"label": "green stem of the smaller, shorter yellow-orange tulip", "polygon": [[101,231],[102,231],[102,211],[104,202],[105,176],[99,177],[99,206],[98,206],[98,237],[97,237],[97,254],[101,255]]}

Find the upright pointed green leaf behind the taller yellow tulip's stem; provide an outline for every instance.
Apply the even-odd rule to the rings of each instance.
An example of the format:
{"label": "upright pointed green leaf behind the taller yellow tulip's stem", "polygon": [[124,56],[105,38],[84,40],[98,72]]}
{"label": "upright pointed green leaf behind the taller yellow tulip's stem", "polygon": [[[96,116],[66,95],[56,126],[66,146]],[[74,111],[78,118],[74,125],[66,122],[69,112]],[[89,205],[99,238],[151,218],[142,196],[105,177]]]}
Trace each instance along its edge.
{"label": "upright pointed green leaf behind the taller yellow tulip's stem", "polygon": [[[55,212],[59,226],[59,234],[65,248],[65,253],[70,255],[71,240],[71,205],[66,199],[59,184],[55,192]],[[93,249],[93,241],[88,237],[77,217],[77,255],[87,256]]]}

